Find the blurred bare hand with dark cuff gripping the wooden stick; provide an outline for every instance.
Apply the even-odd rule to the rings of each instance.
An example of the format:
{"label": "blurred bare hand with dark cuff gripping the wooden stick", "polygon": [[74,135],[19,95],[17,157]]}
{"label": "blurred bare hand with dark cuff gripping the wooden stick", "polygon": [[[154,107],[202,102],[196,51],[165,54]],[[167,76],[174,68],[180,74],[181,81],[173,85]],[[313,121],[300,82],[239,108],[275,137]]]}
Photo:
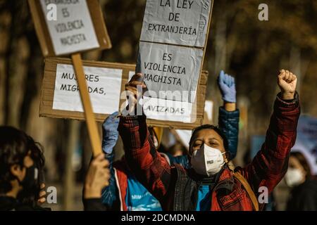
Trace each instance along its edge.
{"label": "blurred bare hand with dark cuff gripping the wooden stick", "polygon": [[90,163],[83,192],[85,211],[107,210],[107,207],[101,203],[101,191],[109,184],[110,171],[108,165],[104,154],[98,155]]}

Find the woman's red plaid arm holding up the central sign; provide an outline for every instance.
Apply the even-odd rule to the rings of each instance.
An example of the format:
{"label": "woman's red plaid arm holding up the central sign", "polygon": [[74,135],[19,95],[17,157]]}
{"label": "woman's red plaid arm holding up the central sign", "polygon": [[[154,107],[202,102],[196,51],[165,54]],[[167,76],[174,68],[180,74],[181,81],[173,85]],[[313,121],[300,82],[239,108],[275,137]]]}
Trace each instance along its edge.
{"label": "woman's red plaid arm holding up the central sign", "polygon": [[[137,102],[137,86],[143,85],[145,88],[144,83],[137,81],[138,79],[142,79],[142,75],[135,75],[126,85],[126,90],[131,94],[129,112],[137,111],[136,104],[131,105]],[[118,130],[123,139],[125,158],[130,169],[154,197],[162,200],[170,185],[171,167],[166,158],[156,151],[147,129],[146,119],[145,115],[121,116]]]}

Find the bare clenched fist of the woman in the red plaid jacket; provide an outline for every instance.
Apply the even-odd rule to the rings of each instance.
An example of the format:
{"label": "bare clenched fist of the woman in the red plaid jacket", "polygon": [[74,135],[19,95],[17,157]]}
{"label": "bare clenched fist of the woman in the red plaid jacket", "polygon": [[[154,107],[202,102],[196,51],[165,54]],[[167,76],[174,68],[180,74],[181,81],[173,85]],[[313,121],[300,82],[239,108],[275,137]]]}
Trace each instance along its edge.
{"label": "bare clenched fist of the woman in the red plaid jacket", "polygon": [[285,100],[294,99],[296,91],[297,77],[288,70],[280,70],[278,75],[278,86],[282,93],[282,98]]}

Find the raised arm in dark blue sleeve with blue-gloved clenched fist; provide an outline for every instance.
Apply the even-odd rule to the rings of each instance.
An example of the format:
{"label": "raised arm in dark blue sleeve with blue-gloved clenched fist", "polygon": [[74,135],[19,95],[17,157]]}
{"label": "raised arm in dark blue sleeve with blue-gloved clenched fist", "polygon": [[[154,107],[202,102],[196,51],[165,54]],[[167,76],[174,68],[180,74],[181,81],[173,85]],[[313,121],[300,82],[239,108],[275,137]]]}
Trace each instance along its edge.
{"label": "raised arm in dark blue sleeve with blue-gloved clenched fist", "polygon": [[221,71],[218,77],[218,86],[223,98],[223,107],[219,108],[219,129],[228,139],[230,160],[237,155],[240,112],[236,108],[235,79]]}

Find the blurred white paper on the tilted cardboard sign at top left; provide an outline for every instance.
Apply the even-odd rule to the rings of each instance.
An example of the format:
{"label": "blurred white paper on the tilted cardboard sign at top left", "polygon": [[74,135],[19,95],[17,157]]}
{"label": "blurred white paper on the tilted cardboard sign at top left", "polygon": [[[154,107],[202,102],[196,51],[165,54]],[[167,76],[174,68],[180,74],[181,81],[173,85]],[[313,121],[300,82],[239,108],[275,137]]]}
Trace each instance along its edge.
{"label": "blurred white paper on the tilted cardboard sign at top left", "polygon": [[[99,42],[85,0],[40,1],[56,56],[97,49]],[[56,20],[48,20],[49,4],[56,4]]]}

